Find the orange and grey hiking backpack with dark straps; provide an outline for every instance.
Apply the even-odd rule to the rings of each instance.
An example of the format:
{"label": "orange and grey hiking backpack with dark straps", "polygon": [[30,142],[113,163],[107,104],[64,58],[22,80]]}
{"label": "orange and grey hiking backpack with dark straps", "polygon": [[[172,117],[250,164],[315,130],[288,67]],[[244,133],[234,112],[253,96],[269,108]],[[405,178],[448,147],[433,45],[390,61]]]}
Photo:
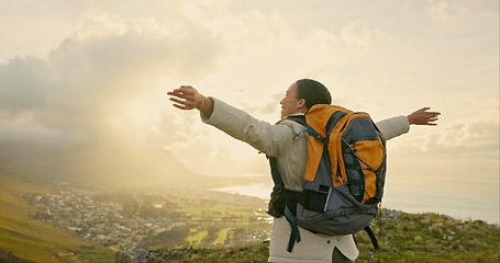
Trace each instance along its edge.
{"label": "orange and grey hiking backpack with dark straps", "polygon": [[369,228],[377,216],[386,180],[386,140],[367,113],[318,104],[293,115],[308,133],[308,162],[302,192],[286,190],[275,158],[268,158],[275,186],[268,214],[286,216],[291,226],[288,251],[300,242],[298,226],[327,236]]}

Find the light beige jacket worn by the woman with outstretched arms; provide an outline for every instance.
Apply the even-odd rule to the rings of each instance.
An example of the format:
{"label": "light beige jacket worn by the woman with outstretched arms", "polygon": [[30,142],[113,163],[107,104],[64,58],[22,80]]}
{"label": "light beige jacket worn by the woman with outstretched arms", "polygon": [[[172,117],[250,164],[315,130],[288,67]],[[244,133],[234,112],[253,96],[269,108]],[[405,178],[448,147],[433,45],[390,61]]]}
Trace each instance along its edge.
{"label": "light beige jacket worn by the woman with outstretched arms", "polygon": [[[210,118],[201,115],[201,119],[231,137],[249,144],[265,155],[276,158],[285,187],[302,191],[308,153],[304,127],[289,119],[269,124],[218,99],[211,99],[213,113]],[[410,130],[410,124],[404,116],[381,121],[377,126],[387,140]],[[297,243],[289,253],[286,248],[290,227],[284,217],[276,218],[269,244],[269,262],[331,262],[335,247],[353,261],[358,255],[352,235],[329,237],[312,233],[302,228],[300,228],[300,235],[302,241]]]}

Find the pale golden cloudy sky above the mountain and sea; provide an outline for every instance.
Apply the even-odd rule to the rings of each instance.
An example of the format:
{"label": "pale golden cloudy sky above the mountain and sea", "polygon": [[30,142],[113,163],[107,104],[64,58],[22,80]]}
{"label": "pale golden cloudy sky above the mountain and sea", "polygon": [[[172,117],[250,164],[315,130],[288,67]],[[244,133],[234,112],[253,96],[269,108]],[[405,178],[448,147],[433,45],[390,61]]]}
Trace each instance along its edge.
{"label": "pale golden cloudy sky above the mountain and sea", "polygon": [[470,195],[464,209],[491,205],[488,220],[498,222],[498,1],[0,7],[0,142],[157,145],[198,173],[267,176],[262,155],[202,124],[196,111],[174,108],[166,92],[190,84],[274,123],[288,87],[311,78],[334,104],[375,121],[423,106],[441,112],[437,126],[412,126],[389,141],[386,195],[432,185],[432,205]]}

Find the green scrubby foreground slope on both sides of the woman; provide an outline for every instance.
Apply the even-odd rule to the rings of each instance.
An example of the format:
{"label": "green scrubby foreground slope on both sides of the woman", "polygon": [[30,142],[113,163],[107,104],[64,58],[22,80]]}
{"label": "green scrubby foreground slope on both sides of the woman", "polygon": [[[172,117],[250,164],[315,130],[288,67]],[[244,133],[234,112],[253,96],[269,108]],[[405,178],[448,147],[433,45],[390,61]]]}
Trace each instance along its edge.
{"label": "green scrubby foreground slope on both sides of the woman", "polygon": [[[397,217],[384,217],[384,235],[377,222],[373,229],[380,250],[374,250],[365,232],[356,233],[360,253],[356,262],[499,262],[500,228],[481,220],[462,221],[433,213],[398,213]],[[153,250],[151,254],[151,263],[267,262],[268,243],[232,249],[164,249]]]}

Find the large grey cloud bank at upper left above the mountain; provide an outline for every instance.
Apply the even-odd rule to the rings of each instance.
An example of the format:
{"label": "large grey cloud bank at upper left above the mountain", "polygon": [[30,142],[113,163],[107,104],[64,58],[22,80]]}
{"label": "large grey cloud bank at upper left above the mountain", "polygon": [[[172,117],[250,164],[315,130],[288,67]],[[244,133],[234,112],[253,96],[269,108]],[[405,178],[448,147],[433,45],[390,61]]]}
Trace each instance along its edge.
{"label": "large grey cloud bank at upper left above the mountain", "polygon": [[[0,65],[0,133],[19,119],[92,139],[124,130],[120,122],[135,110],[152,110],[146,105],[158,96],[157,79],[197,79],[216,67],[221,39],[178,23],[169,31],[152,19],[87,15],[45,59],[15,57]],[[184,26],[189,33],[175,34]]]}

